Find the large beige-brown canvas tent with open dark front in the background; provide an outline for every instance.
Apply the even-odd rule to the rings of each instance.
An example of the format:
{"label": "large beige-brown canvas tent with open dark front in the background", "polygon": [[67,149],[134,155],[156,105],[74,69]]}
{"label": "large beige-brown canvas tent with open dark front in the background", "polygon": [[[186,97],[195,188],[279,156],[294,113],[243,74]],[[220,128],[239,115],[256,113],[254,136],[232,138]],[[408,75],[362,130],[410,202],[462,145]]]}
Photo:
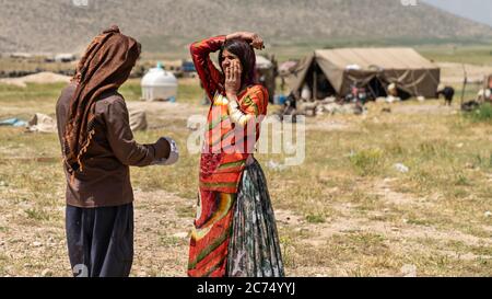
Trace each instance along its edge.
{"label": "large beige-brown canvas tent with open dark front in the background", "polygon": [[307,85],[316,100],[344,96],[353,85],[366,88],[372,97],[386,96],[390,83],[409,96],[434,97],[440,79],[440,68],[411,48],[340,48],[315,50],[288,83],[297,94]]}

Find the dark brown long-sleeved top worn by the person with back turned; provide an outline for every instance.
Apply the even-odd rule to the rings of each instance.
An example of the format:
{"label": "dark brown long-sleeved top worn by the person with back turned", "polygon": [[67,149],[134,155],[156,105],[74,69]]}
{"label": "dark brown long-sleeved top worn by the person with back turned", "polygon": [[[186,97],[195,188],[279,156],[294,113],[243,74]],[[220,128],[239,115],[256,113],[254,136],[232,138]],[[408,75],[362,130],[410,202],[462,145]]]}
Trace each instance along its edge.
{"label": "dark brown long-sleeved top worn by the person with back turned", "polygon": [[[77,84],[69,84],[58,100],[58,137],[62,137]],[[163,142],[139,145],[133,140],[124,97],[112,92],[95,104],[95,135],[83,157],[83,171],[71,181],[67,166],[67,205],[93,208],[119,206],[133,202],[129,166],[147,166],[164,158]]]}

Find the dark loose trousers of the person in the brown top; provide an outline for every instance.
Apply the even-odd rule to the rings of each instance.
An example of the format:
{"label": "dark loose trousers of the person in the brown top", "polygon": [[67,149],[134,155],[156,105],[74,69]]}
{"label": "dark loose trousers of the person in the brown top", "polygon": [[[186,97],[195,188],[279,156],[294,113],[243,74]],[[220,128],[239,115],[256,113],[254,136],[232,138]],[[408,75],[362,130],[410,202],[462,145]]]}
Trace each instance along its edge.
{"label": "dark loose trousers of the person in the brown top", "polygon": [[66,209],[67,244],[75,277],[127,277],[133,262],[133,204]]}

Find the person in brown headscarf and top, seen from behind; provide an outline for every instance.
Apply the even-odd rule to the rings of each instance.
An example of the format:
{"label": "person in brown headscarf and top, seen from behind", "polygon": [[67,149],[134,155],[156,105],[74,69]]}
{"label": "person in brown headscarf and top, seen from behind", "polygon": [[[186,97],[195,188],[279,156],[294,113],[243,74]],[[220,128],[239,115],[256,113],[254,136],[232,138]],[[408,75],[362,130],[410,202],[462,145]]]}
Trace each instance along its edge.
{"label": "person in brown headscarf and top, seen from behind", "polygon": [[140,44],[113,26],[96,36],[57,103],[67,174],[67,243],[77,276],[128,276],[133,258],[133,192],[129,166],[171,164],[175,142],[133,140],[117,92]]}

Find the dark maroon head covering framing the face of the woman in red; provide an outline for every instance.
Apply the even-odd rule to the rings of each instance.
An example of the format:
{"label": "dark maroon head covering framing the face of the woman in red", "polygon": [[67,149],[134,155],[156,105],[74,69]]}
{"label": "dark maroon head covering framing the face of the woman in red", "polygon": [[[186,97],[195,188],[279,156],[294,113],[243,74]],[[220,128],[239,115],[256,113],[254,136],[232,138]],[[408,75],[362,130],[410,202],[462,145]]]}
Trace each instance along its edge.
{"label": "dark maroon head covering framing the face of the woman in red", "polygon": [[241,76],[241,85],[248,87],[256,83],[255,78],[255,66],[256,66],[256,56],[253,47],[243,39],[233,38],[225,41],[225,44],[222,46],[219,51],[219,65],[221,67],[222,72],[222,53],[224,50],[229,50],[239,58],[241,65],[243,67],[243,73]]}

